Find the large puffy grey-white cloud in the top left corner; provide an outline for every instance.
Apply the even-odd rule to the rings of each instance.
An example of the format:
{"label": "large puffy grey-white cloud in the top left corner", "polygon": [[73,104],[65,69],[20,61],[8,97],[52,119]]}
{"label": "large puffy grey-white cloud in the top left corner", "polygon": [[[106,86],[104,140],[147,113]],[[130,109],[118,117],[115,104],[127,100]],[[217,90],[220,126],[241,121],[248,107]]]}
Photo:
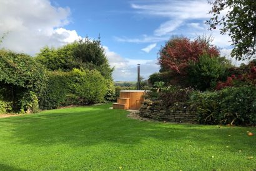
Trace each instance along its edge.
{"label": "large puffy grey-white cloud in the top left corner", "polygon": [[81,38],[66,30],[69,7],[54,7],[49,0],[1,0],[0,35],[9,32],[1,47],[34,55],[45,45],[59,47]]}

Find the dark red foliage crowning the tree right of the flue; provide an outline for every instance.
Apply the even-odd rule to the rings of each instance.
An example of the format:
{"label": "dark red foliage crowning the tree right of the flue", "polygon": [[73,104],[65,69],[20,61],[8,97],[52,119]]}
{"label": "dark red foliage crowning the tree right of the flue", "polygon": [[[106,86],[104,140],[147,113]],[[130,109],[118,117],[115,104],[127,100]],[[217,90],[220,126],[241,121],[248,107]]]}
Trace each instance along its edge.
{"label": "dark red foliage crowning the tree right of the flue", "polygon": [[187,38],[170,39],[159,52],[159,64],[162,68],[168,68],[177,73],[184,73],[190,60],[198,61],[203,54],[209,57],[220,55],[219,49],[214,45],[199,40],[189,40]]}

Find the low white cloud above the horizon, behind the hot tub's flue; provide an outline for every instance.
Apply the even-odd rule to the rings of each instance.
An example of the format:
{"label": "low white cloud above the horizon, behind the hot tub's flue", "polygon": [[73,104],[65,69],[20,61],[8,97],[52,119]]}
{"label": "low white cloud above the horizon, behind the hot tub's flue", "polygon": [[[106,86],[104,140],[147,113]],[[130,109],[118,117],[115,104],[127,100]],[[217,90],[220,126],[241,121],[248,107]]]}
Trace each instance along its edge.
{"label": "low white cloud above the horizon, behind the hot tub's flue", "polygon": [[104,46],[105,53],[111,67],[115,67],[113,78],[115,81],[135,81],[137,79],[137,64],[140,63],[140,75],[145,79],[152,73],[159,72],[159,65],[156,60],[137,60],[123,58],[116,52],[112,52]]}

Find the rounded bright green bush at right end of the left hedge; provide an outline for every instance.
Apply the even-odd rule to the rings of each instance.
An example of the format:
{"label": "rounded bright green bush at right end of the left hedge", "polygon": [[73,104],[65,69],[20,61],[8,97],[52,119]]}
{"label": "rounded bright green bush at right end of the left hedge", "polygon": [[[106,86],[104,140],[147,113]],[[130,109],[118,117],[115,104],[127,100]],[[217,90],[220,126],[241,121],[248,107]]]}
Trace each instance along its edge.
{"label": "rounded bright green bush at right end of the left hedge", "polygon": [[69,89],[79,97],[79,104],[94,104],[104,101],[107,92],[106,81],[97,70],[73,69]]}

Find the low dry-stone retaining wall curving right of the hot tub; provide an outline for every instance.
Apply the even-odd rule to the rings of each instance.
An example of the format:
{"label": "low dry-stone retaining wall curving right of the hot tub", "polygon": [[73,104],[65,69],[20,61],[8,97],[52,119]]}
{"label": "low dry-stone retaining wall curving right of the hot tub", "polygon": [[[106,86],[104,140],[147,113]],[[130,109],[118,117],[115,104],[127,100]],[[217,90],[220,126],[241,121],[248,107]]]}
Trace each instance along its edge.
{"label": "low dry-stone retaining wall curving right of the hot tub", "polygon": [[[158,103],[157,103],[158,104]],[[187,103],[175,103],[170,108],[157,106],[154,102],[144,101],[139,116],[170,122],[196,122],[194,109]]]}

